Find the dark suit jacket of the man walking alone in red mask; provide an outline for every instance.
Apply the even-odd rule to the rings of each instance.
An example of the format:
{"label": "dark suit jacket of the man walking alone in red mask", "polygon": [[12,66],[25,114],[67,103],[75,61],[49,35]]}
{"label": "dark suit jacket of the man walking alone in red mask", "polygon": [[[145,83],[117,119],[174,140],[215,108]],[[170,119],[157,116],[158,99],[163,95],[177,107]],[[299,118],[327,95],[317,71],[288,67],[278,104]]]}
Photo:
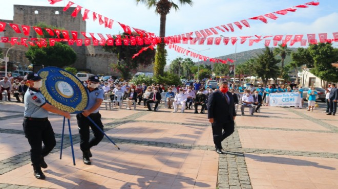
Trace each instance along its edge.
{"label": "dark suit jacket of the man walking alone in red mask", "polygon": [[[234,97],[231,92],[226,92],[229,97],[229,104],[226,103],[223,93],[219,90],[213,92],[208,97],[208,119],[214,118],[214,122],[225,123],[228,121],[234,121],[236,116]],[[226,109],[228,112],[225,112]],[[225,116],[229,115],[229,116]]]}

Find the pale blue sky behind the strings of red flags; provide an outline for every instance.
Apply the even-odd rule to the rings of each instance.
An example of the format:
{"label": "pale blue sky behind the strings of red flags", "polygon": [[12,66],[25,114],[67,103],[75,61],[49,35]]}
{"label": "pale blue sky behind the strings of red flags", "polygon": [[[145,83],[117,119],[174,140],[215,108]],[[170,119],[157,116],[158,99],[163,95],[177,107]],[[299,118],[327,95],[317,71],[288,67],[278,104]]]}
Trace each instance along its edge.
{"label": "pale blue sky behind the strings of red flags", "polygon": [[[4,1],[4,0],[2,0]],[[315,0],[314,0],[315,1]],[[118,22],[125,25],[146,30],[159,35],[160,16],[155,13],[155,8],[148,9],[144,4],[137,4],[135,0],[73,0],[77,5],[94,11],[103,16],[114,20],[112,29],[105,29],[99,25],[98,21],[87,20],[87,32],[102,34],[117,34],[123,32]],[[177,0],[173,0],[177,3]],[[255,35],[297,35],[304,34],[303,39],[307,39],[306,34],[328,33],[328,38],[333,38],[332,33],[338,32],[338,1],[321,0],[319,6],[309,6],[308,8],[297,8],[295,12],[288,12],[286,15],[279,15],[278,19],[269,19],[268,23],[260,20],[249,20],[248,18],[287,9],[293,6],[311,2],[310,0],[194,0],[193,6],[180,5],[176,12],[171,10],[166,18],[166,36],[178,35],[188,32],[199,31],[211,27],[226,25],[246,19],[250,28],[243,27],[238,29],[235,25],[235,32],[219,32],[219,35],[210,37],[240,37]],[[318,1],[315,1],[318,2]],[[68,1],[50,5],[47,0],[11,0],[2,3],[0,19],[13,19],[13,5],[32,5],[32,6],[53,6],[64,7]],[[74,5],[72,6],[74,7]],[[83,9],[84,10],[84,9]],[[83,13],[82,10],[82,13]],[[91,13],[90,12],[90,13]],[[71,12],[69,11],[69,15]],[[318,39],[318,35],[316,35]],[[206,42],[205,42],[206,43]],[[200,51],[200,54],[210,58],[233,54],[235,52],[248,51],[252,49],[264,48],[264,42],[255,43],[249,46],[249,41],[237,45],[230,42],[227,45],[190,45],[178,44],[182,48],[192,48]],[[334,46],[337,43],[333,44]],[[272,46],[272,42],[270,44]],[[292,47],[298,48],[300,44]],[[206,50],[209,49],[209,50]],[[205,50],[205,51],[204,51]],[[195,52],[196,52],[195,51]],[[193,51],[194,52],[194,51]],[[173,49],[167,49],[167,62],[183,57]],[[197,58],[192,58],[197,61]],[[168,64],[168,63],[167,63]]]}

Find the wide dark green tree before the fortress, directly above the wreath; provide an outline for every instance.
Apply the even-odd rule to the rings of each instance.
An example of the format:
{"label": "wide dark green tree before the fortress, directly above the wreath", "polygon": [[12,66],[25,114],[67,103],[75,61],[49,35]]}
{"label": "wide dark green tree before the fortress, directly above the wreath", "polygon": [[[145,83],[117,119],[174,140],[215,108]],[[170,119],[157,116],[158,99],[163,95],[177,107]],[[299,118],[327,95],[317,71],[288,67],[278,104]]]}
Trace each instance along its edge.
{"label": "wide dark green tree before the fortress, directly above the wreath", "polygon": [[28,60],[35,65],[64,67],[72,65],[76,61],[75,51],[66,44],[56,42],[54,46],[47,45],[39,48],[30,46],[26,52]]}

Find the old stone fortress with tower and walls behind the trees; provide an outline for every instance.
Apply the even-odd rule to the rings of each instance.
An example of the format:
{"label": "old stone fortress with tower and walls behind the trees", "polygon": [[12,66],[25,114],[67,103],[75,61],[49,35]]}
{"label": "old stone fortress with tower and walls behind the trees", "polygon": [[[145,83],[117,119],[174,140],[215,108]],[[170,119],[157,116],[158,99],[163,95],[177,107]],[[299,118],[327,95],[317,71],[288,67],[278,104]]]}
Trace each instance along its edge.
{"label": "old stone fortress with tower and walls behind the trees", "polygon": [[[64,7],[40,7],[40,6],[26,6],[26,5],[14,5],[14,17],[13,20],[0,21],[7,23],[15,23],[17,25],[35,26],[39,22],[44,22],[46,25],[55,26],[57,28],[64,28],[68,31],[77,31],[78,38],[84,39],[80,31],[86,32],[86,21],[82,20],[82,15],[79,13],[77,17],[72,17],[71,12],[75,7],[69,8],[68,11],[63,11]],[[21,30],[21,27],[20,27]],[[23,33],[16,33],[9,25],[6,26],[4,32],[0,32],[0,37],[36,37],[36,32],[31,28],[30,35],[25,36]],[[19,40],[18,40],[19,41]],[[0,50],[3,51],[3,55],[6,55],[11,43],[0,43]],[[77,60],[72,65],[78,70],[87,70],[92,74],[103,74],[120,76],[119,73],[113,72],[110,68],[110,64],[117,63],[115,54],[104,52],[102,46],[77,46],[72,45],[72,48],[77,53]],[[18,66],[27,67],[30,62],[26,58],[25,53],[28,48],[23,45],[15,44],[15,47],[8,52],[10,61],[20,62]],[[139,72],[153,72],[153,65],[148,67],[140,67]]]}

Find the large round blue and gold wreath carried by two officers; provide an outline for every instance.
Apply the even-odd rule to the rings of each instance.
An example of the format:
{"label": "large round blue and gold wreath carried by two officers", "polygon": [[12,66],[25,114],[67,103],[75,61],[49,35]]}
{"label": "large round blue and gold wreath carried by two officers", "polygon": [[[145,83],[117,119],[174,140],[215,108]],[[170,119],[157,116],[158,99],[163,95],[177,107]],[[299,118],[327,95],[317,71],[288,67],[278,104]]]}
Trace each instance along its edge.
{"label": "large round blue and gold wreath carried by two officers", "polygon": [[58,67],[45,67],[38,73],[46,101],[60,110],[81,113],[88,105],[88,91],[73,74]]}

